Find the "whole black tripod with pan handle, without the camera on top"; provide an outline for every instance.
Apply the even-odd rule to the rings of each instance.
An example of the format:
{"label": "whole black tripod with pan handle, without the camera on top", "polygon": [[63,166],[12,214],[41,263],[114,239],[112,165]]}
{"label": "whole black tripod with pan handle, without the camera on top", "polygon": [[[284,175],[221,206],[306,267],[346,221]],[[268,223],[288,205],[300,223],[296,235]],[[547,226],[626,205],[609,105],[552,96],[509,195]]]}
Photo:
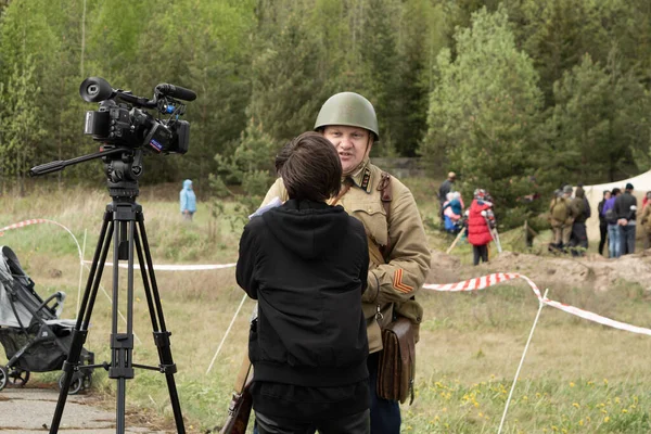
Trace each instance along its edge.
{"label": "whole black tripod with pan handle, without the camera on top", "polygon": [[[144,230],[144,217],[142,207],[136,203],[139,194],[138,178],[142,174],[141,164],[142,151],[128,148],[108,148],[99,153],[85,155],[81,157],[48,163],[37,166],[30,170],[30,175],[43,175],[51,171],[58,171],[66,166],[77,164],[84,161],[100,158],[104,159],[105,171],[107,176],[108,192],[113,202],[106,205],[102,229],[95,252],[92,258],[92,265],[86,290],[79,307],[77,323],[73,330],[73,340],[67,360],[63,365],[63,384],[56,403],[56,410],[52,418],[50,434],[59,432],[61,417],[68,395],[68,388],[72,384],[75,371],[79,370],[81,348],[88,334],[90,316],[98,294],[98,288],[102,280],[102,271],[106,261],[111,240],[113,239],[113,311],[111,327],[111,363],[108,365],[108,378],[117,380],[117,405],[116,405],[116,433],[125,433],[125,398],[126,380],[133,378],[133,368],[142,368],[159,371],[165,374],[169,398],[174,411],[177,432],[184,434],[183,417],[174,380],[177,371],[176,365],[171,358],[169,348],[170,332],[165,328],[163,317],[163,307],[158,286],[154,276],[152,257]],[[133,253],[138,255],[138,263],[142,273],[142,283],[146,295],[146,303],[152,321],[154,343],[158,350],[159,365],[157,367],[137,365],[132,362],[133,352]],[[118,332],[118,265],[120,260],[128,264],[127,271],[127,315],[126,330]],[[103,367],[84,366],[82,369]]]}

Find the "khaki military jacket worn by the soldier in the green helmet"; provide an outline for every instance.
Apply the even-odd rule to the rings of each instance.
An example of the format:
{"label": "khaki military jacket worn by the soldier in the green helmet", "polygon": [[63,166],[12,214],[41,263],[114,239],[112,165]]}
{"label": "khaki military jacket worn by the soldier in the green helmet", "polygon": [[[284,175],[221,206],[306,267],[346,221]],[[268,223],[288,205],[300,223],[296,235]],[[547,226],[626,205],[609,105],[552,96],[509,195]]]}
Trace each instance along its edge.
{"label": "khaki military jacket worn by the soldier in the green helmet", "polygon": [[[392,321],[394,310],[416,324],[422,321],[422,307],[412,298],[430,272],[431,256],[413,195],[393,176],[393,200],[386,218],[378,190],[381,174],[382,170],[367,159],[347,178],[353,184],[337,202],[362,222],[368,237],[370,264],[362,309],[370,353],[382,349],[380,328]],[[280,178],[271,186],[263,204],[277,196],[283,202],[289,199]],[[381,253],[380,247],[386,246],[387,242],[388,248]]]}

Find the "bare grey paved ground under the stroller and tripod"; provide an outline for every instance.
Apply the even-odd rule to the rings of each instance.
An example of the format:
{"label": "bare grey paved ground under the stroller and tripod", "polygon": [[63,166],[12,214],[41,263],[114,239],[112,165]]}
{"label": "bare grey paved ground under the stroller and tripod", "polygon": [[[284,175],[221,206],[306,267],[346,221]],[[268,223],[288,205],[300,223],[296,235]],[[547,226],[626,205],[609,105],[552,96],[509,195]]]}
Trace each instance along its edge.
{"label": "bare grey paved ground under the stroller and tripod", "polygon": [[[48,432],[59,392],[52,388],[4,388],[0,392],[0,433],[42,434]],[[127,433],[164,434],[151,422],[127,416]],[[115,433],[115,411],[106,410],[91,395],[68,396],[59,429],[60,433]]]}

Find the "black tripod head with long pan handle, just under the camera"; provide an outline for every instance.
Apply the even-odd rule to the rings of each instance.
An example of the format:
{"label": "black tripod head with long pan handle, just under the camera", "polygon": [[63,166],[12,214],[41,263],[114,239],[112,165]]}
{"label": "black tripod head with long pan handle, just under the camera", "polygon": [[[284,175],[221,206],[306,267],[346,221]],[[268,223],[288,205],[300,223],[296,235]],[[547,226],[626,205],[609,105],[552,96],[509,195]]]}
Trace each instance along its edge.
{"label": "black tripod head with long pan handle, just under the camera", "polygon": [[29,169],[29,176],[35,177],[60,171],[67,166],[97,158],[102,158],[104,163],[106,187],[108,188],[111,197],[114,200],[132,199],[140,194],[138,179],[142,176],[143,171],[141,149],[106,144],[100,149],[100,152],[93,154],[50,162],[33,167]]}

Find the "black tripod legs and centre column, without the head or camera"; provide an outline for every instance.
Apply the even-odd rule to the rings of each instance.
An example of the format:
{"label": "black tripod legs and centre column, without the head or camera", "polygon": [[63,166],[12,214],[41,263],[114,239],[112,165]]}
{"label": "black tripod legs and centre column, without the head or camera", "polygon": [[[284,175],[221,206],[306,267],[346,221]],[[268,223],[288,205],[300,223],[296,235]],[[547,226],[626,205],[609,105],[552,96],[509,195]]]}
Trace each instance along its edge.
{"label": "black tripod legs and centre column, without the head or camera", "polygon": [[[137,182],[135,182],[137,184]],[[110,189],[114,190],[114,189]],[[169,347],[169,335],[165,327],[163,307],[158,286],[154,275],[152,256],[149,248],[146,232],[144,229],[144,217],[142,206],[136,203],[135,197],[113,195],[113,202],[106,205],[100,238],[88,276],[86,290],[77,315],[77,323],[73,329],[73,340],[66,361],[63,363],[63,383],[56,403],[56,409],[52,418],[50,434],[59,432],[61,418],[68,395],[75,371],[80,368],[81,348],[86,342],[88,327],[92,308],[98,294],[98,288],[102,280],[102,272],[106,261],[106,255],[113,239],[113,310],[111,327],[111,365],[108,378],[117,380],[117,404],[116,404],[116,433],[125,433],[125,403],[126,380],[133,378],[133,368],[149,369],[165,374],[167,388],[169,391],[170,404],[176,421],[177,432],[184,434],[183,417],[179,404],[174,374],[177,372],[176,363],[171,358]],[[159,365],[157,367],[137,365],[132,362],[133,350],[133,260],[135,253],[140,264],[142,283],[146,296],[154,343],[158,350]],[[119,261],[126,260],[127,271],[127,323],[125,331],[118,331],[119,301]]]}

